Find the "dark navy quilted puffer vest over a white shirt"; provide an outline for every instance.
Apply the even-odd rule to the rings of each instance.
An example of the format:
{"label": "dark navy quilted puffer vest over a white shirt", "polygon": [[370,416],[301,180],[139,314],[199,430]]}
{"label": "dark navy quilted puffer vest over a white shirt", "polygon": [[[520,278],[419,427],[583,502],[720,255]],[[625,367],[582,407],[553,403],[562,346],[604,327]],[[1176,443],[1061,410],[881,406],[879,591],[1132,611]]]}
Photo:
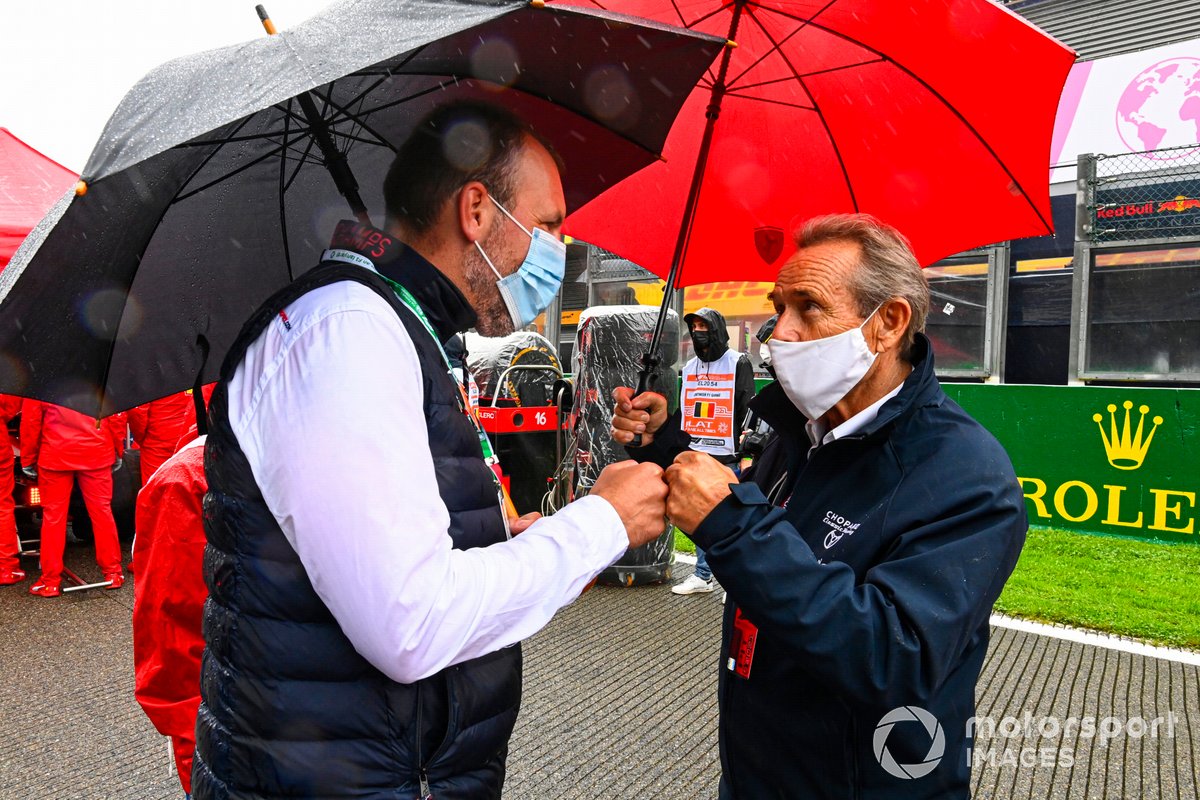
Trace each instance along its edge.
{"label": "dark navy quilted puffer vest over a white shirt", "polygon": [[[415,295],[442,338],[469,326],[474,312],[457,289],[412,251],[397,249],[376,258],[377,267]],[[209,410],[210,594],[193,796],[408,799],[419,796],[424,774],[438,800],[499,798],[521,703],[520,648],[410,685],[372,667],[313,590],[229,426],[226,381],[246,348],[289,302],[338,281],[378,293],[413,339],[454,546],[505,539],[492,475],[460,411],[458,390],[428,332],[386,282],[361,266],[326,261],[266,301],[230,349]]]}

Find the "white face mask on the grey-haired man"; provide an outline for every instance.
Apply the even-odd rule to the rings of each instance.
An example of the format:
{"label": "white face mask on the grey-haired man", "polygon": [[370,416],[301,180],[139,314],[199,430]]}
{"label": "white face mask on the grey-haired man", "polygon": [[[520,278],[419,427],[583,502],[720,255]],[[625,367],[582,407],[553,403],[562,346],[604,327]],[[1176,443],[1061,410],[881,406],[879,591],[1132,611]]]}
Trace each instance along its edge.
{"label": "white face mask on the grey-haired man", "polygon": [[[878,311],[876,306],[875,311]],[[863,324],[834,336],[811,342],[780,342],[772,338],[770,362],[775,378],[800,414],[810,420],[821,417],[866,375],[875,354],[866,345]]]}

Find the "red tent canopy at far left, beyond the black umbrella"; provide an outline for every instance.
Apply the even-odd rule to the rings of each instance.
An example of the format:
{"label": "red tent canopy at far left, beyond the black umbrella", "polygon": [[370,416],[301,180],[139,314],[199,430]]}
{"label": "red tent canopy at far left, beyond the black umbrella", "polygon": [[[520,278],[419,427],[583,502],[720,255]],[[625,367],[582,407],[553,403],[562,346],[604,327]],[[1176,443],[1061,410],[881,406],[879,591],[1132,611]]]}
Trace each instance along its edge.
{"label": "red tent canopy at far left, beyond the black umbrella", "polygon": [[0,270],[78,178],[0,128]]}

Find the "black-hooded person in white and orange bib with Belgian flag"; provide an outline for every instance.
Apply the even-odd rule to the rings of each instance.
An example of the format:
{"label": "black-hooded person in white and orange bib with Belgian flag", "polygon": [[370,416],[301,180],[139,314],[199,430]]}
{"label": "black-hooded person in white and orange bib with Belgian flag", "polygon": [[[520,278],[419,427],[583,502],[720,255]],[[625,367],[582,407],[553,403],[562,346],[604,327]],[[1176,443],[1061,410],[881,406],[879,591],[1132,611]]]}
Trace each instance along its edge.
{"label": "black-hooded person in white and orange bib with Belgian flag", "polygon": [[[691,450],[736,468],[742,425],[754,398],[754,365],[744,353],[730,349],[730,331],[721,312],[706,307],[684,315],[683,320],[696,355],[683,367],[679,420],[667,425],[679,425],[690,437]],[[671,587],[671,591],[708,593],[714,584],[704,551],[697,547],[695,572]]]}

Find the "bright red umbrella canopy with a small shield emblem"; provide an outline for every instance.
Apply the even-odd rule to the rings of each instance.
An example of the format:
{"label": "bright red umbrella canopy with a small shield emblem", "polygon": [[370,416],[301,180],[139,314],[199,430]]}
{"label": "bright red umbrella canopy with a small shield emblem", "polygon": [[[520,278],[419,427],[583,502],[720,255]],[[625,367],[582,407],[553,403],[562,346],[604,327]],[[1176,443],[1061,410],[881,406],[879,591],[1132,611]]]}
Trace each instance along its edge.
{"label": "bright red umbrella canopy with a small shield emblem", "polygon": [[689,97],[665,161],[568,219],[661,277],[686,230],[676,285],[773,281],[792,231],[821,213],[872,213],[922,264],[1051,230],[1050,139],[1074,54],[990,0],[569,1],[737,43]]}

